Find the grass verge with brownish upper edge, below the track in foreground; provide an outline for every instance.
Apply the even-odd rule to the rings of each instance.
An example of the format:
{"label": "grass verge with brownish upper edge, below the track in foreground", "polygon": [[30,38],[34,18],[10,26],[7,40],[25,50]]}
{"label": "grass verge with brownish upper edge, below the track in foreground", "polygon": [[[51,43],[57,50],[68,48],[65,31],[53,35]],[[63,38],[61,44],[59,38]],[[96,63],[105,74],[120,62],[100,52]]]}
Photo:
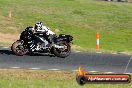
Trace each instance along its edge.
{"label": "grass verge with brownish upper edge, below the track in foreground", "polygon": [[[75,72],[0,70],[0,88],[80,88]],[[83,88],[131,88],[130,84],[86,84]]]}

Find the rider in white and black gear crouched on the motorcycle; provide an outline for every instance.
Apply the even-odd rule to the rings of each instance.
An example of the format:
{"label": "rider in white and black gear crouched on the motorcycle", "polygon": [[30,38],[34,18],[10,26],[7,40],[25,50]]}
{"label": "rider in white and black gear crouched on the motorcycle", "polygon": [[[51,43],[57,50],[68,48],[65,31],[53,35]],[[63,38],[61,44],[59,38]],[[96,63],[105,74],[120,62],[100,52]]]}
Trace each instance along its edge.
{"label": "rider in white and black gear crouched on the motorcycle", "polygon": [[[53,44],[53,38],[56,36],[56,34],[54,32],[52,32],[48,27],[46,27],[45,25],[43,25],[42,22],[37,22],[34,26],[34,28],[32,28],[33,33],[45,33],[47,36],[47,41],[50,44]],[[30,51],[34,51],[35,50],[35,43],[32,41],[29,41],[29,45],[30,45]]]}

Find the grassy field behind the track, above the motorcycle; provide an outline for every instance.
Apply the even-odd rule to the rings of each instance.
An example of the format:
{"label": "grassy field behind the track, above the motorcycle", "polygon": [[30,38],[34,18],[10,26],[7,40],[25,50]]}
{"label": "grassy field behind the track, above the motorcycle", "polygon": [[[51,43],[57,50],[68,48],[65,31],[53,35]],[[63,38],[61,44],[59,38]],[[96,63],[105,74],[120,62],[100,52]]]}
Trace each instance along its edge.
{"label": "grassy field behind the track, above the motorcycle", "polygon": [[[96,32],[100,48],[106,51],[132,52],[132,3],[100,0],[0,0],[0,32],[21,32],[42,21],[52,30],[74,36],[74,45],[95,50]],[[8,11],[13,17],[7,19]],[[5,21],[6,20],[6,21]],[[14,29],[11,29],[13,27]],[[4,30],[3,30],[4,29]]]}

